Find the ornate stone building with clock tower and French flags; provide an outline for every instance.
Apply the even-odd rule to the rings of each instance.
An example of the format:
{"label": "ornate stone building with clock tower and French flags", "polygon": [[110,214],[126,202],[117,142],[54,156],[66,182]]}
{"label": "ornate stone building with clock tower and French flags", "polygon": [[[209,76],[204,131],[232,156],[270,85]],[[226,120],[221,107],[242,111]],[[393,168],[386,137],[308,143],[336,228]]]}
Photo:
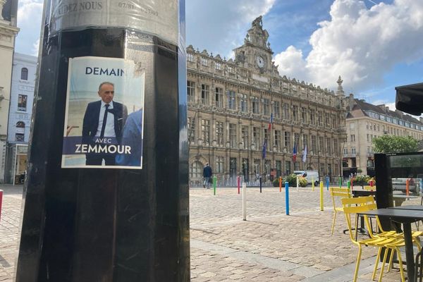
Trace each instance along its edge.
{"label": "ornate stone building with clock tower and French flags", "polygon": [[259,17],[234,50],[235,60],[187,48],[191,185],[200,184],[207,162],[221,185],[235,183],[236,176],[253,184],[259,176],[267,181],[305,168],[340,175],[341,78],[335,93],[279,75],[268,37]]}

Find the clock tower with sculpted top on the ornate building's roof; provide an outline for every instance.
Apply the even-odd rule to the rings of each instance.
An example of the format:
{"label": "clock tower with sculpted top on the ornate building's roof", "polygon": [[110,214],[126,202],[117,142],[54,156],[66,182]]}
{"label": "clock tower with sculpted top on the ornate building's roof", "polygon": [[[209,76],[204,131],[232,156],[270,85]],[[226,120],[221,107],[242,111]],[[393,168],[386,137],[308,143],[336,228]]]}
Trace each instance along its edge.
{"label": "clock tower with sculpted top on the ornate building's roof", "polygon": [[270,43],[267,42],[269,33],[263,30],[262,16],[252,21],[250,30],[241,47],[235,48],[235,62],[245,68],[257,70],[257,73],[278,74],[277,67],[272,61]]}

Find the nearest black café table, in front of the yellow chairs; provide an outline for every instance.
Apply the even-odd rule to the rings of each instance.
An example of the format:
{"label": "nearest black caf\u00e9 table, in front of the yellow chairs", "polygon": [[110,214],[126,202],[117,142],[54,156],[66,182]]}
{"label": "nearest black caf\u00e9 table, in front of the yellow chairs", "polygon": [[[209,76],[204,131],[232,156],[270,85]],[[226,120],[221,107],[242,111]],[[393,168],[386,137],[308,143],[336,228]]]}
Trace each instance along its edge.
{"label": "nearest black caf\u00e9 table, in front of the yellow chairs", "polygon": [[[411,207],[411,206],[408,206]],[[412,233],[411,223],[423,219],[422,209],[405,209],[405,207],[391,207],[389,209],[375,209],[367,212],[360,212],[358,214],[367,216],[381,216],[388,217],[392,221],[402,223],[405,240],[405,259],[407,261],[407,277],[408,281],[415,281],[415,262],[414,253],[412,250]]]}

